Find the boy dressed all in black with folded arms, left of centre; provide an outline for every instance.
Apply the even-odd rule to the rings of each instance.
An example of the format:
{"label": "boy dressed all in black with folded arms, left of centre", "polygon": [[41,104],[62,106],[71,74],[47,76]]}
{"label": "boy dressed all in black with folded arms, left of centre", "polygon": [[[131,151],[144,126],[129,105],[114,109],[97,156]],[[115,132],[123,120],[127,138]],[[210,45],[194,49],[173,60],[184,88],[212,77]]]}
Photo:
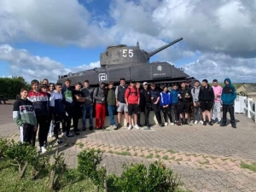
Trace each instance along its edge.
{"label": "boy dressed all in black with folded arms, left of centre", "polygon": [[76,136],[79,136],[79,117],[82,112],[82,104],[85,102],[84,94],[81,91],[82,84],[80,82],[75,84],[75,89],[72,90],[73,96],[73,131]]}

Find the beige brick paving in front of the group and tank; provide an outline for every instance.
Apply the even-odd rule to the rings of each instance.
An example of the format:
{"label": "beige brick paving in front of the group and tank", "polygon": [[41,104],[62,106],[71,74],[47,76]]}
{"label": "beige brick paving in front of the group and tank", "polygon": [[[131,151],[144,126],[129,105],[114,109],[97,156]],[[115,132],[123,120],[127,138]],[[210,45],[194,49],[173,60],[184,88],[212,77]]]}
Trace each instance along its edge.
{"label": "beige brick paving in front of the group and tank", "polygon": [[[0,105],[0,137],[18,137],[12,123],[12,106]],[[183,125],[154,131],[85,131],[65,139],[67,165],[77,166],[83,148],[100,148],[108,173],[119,174],[123,163],[163,160],[182,176],[183,188],[196,191],[256,191],[256,172],[241,168],[241,162],[256,161],[256,125],[236,114],[237,129],[218,125]]]}

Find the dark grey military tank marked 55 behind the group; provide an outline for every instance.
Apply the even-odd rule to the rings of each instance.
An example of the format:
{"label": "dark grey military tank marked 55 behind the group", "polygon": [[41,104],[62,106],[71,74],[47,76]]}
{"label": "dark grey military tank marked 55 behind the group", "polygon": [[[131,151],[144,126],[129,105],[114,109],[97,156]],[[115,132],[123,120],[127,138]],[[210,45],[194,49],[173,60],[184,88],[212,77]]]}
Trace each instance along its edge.
{"label": "dark grey military tank marked 55 behind the group", "polygon": [[154,83],[159,87],[171,86],[171,84],[188,80],[192,83],[195,79],[184,73],[183,68],[174,67],[168,62],[149,62],[150,57],[181,40],[183,38],[177,38],[170,44],[151,52],[140,49],[138,42],[137,46],[127,46],[126,44],[108,46],[100,55],[101,67],[59,75],[58,82],[64,84],[65,79],[71,79],[71,86],[74,86],[77,82],[84,83],[84,80],[87,79],[90,81],[91,87],[98,87],[102,82],[108,84],[109,81],[113,81],[113,84],[117,85],[120,78],[125,78],[128,83],[134,79],[139,82]]}

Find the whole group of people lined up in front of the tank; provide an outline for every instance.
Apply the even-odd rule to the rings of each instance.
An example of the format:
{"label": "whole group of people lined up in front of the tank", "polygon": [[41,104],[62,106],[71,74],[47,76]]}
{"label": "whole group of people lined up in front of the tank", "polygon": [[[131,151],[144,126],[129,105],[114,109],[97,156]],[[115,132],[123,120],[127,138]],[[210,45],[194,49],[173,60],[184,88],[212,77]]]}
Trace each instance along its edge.
{"label": "whole group of people lined up in front of the tank", "polygon": [[[195,81],[194,87],[189,82],[183,82],[180,87],[177,84],[172,90],[165,86],[163,90],[156,88],[154,83],[143,83],[131,80],[130,85],[125,84],[125,79],[120,79],[120,84],[113,89],[113,82],[101,83],[98,88],[91,88],[88,80],[84,81],[84,88],[80,82],[76,83],[74,89],[71,87],[71,80],[66,79],[64,84],[49,84],[44,79],[39,84],[34,79],[31,82],[32,90],[22,88],[20,99],[14,103],[13,119],[20,129],[21,142],[32,143],[35,146],[38,132],[38,147],[44,153],[46,151],[47,138],[54,132],[57,143],[61,144],[59,138],[60,124],[62,125],[63,137],[74,137],[79,131],[86,130],[86,116],[89,113],[89,130],[93,130],[93,110],[96,110],[96,130],[105,129],[105,116],[108,108],[110,126],[108,130],[119,130],[121,128],[122,113],[125,113],[128,130],[131,130],[132,115],[134,128],[140,129],[141,113],[145,114],[144,130],[151,130],[149,125],[149,113],[151,108],[160,126],[168,125],[168,118],[171,125],[188,125],[194,119],[194,123],[212,125],[215,122],[215,112],[218,113],[218,123],[226,125],[226,113],[230,112],[230,122],[236,128],[234,117],[234,100],[236,89],[230,79],[224,80],[224,88],[218,85],[216,79],[212,86],[207,79]],[[223,105],[223,119],[220,117],[220,107]],[[211,112],[212,111],[212,112]],[[114,114],[118,113],[118,123],[115,123]],[[161,112],[165,123],[162,123]],[[174,119],[172,119],[172,112]],[[191,113],[192,112],[192,113]],[[83,128],[79,130],[79,117],[82,113]],[[185,114],[183,116],[183,113]],[[190,117],[189,117],[190,116]],[[73,119],[74,135],[70,132]],[[39,131],[38,131],[39,126]]]}

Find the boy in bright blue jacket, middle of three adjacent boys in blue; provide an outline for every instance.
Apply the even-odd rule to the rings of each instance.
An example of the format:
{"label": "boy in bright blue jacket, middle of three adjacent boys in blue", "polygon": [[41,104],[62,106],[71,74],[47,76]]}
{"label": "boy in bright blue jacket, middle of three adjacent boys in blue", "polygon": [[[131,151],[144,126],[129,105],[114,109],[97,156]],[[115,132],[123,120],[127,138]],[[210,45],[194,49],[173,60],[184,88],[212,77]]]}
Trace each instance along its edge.
{"label": "boy in bright blue jacket, middle of three adjacent boys in blue", "polygon": [[164,90],[160,92],[160,106],[162,112],[164,113],[165,119],[165,126],[168,125],[167,115],[170,119],[171,125],[174,125],[172,122],[172,96],[171,93],[168,91],[168,87],[165,86]]}

